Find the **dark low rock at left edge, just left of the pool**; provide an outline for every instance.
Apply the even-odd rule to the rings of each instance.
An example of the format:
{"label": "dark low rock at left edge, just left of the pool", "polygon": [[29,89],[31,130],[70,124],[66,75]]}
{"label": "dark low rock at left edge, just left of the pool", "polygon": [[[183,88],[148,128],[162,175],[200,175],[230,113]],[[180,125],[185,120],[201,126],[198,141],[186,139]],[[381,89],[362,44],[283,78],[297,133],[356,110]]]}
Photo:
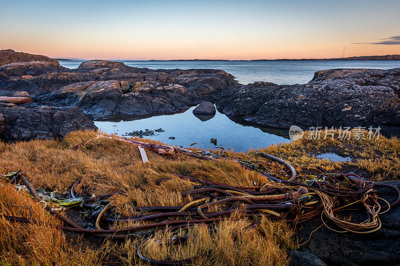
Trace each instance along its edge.
{"label": "dark low rock at left edge, just left of the pool", "polygon": [[25,108],[0,104],[0,139],[62,138],[75,130],[97,129],[79,108]]}

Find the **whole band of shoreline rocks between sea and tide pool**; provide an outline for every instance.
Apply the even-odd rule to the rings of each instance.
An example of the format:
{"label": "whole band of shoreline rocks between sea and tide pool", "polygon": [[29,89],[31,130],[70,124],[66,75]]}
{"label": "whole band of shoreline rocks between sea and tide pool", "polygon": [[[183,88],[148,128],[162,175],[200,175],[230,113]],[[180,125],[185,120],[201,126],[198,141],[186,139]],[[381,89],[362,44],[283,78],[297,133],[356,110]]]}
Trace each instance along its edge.
{"label": "whole band of shoreline rocks between sea and tide pool", "polygon": [[1,96],[25,91],[36,103],[79,107],[95,119],[171,114],[208,101],[207,115],[216,103],[231,119],[262,126],[380,126],[400,134],[400,68],[327,69],[307,84],[241,85],[216,69],[152,70],[108,60],[67,69],[46,56],[13,50],[1,50],[0,62],[0,91],[9,92]]}

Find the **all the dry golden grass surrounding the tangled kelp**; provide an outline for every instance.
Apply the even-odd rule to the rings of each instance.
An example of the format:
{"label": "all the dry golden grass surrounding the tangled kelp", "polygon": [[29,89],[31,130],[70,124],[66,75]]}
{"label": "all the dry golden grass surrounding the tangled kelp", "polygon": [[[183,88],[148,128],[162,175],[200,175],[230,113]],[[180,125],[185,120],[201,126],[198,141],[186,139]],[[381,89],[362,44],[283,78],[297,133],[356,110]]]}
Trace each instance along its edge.
{"label": "all the dry golden grass surrounding the tangled kelp", "polygon": [[[169,174],[192,175],[231,185],[257,185],[267,180],[256,173],[244,170],[237,163],[229,161],[203,161],[183,154],[162,156],[147,151],[149,163],[142,163],[136,146],[117,140],[96,139],[77,150],[70,150],[82,141],[98,134],[93,131],[72,132],[62,141],[32,140],[29,142],[0,142],[0,173],[22,170],[35,187],[51,191],[69,191],[77,181],[76,192],[87,195],[126,191],[124,195],[111,198],[112,210],[124,215],[132,215],[135,206],[184,206],[189,199],[180,192],[192,189],[193,183],[173,178]],[[139,139],[136,139],[139,140]],[[144,140],[145,141],[145,140]],[[330,162],[313,155],[329,151],[349,152],[351,162]],[[366,172],[372,179],[398,179],[400,177],[400,141],[398,138],[378,140],[337,139],[308,140],[272,145],[263,152],[287,160],[300,171],[300,167],[321,166],[329,171],[345,168]],[[253,151],[247,154],[227,152],[227,156],[241,160],[264,161],[273,164]],[[272,167],[274,168],[274,167]],[[161,175],[160,175],[161,174]],[[171,178],[158,185],[157,179]],[[20,225],[6,221],[2,215],[32,217],[40,221],[57,223],[33,202],[25,193],[16,192],[11,185],[0,187],[0,241],[1,263],[4,265],[90,265],[98,264],[102,256],[114,258],[126,265],[141,264],[135,255],[138,240],[126,240],[116,244],[107,242],[104,250],[88,249],[81,253],[79,248],[70,248],[65,236],[45,225]],[[141,187],[137,187],[141,186]],[[28,210],[23,207],[32,206]],[[196,265],[284,265],[287,263],[285,249],[292,244],[292,231],[282,222],[262,220],[261,226],[248,229],[248,221],[223,222],[214,231],[205,226],[189,230],[190,241],[171,252],[168,245],[171,232],[159,233],[159,241],[148,241],[143,253],[151,258],[189,258],[201,255]],[[117,223],[115,228],[138,223]],[[4,237],[10,235],[11,237]],[[234,244],[233,244],[234,243]],[[31,249],[37,246],[39,248]],[[117,258],[117,259],[115,259]],[[174,258],[174,257],[172,257]],[[249,263],[251,262],[251,264]],[[84,263],[82,263],[84,262]]]}

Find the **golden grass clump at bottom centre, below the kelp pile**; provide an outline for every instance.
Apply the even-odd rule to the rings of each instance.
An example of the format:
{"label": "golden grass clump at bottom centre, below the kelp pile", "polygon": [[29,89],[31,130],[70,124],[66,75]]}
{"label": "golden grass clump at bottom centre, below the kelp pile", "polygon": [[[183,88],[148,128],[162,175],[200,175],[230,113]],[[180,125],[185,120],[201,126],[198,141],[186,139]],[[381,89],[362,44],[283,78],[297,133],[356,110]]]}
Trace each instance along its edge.
{"label": "golden grass clump at bottom centre, below the kelp pile", "polygon": [[[225,220],[215,227],[195,225],[188,230],[159,231],[143,243],[141,253],[153,260],[195,258],[195,266],[287,265],[285,249],[293,248],[293,231],[288,225],[266,218],[261,219],[257,229],[249,227],[250,224],[248,220]],[[187,235],[187,241],[172,245],[173,235]],[[120,245],[108,242],[106,247],[126,265],[143,265],[135,254],[140,243],[140,240],[127,240]]]}

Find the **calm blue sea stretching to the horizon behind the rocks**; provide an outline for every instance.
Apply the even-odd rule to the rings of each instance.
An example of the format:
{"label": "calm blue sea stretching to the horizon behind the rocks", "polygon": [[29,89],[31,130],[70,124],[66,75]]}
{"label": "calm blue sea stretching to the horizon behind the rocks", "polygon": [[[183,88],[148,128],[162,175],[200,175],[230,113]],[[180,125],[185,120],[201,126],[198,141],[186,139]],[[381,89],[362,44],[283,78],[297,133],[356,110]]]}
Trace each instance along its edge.
{"label": "calm blue sea stretching to the horizon behind the rocks", "polygon": [[[83,61],[59,61],[62,66],[77,68]],[[314,72],[332,68],[400,67],[400,61],[122,61],[128,66],[151,69],[222,69],[242,84],[269,81],[276,84],[307,83]]]}

